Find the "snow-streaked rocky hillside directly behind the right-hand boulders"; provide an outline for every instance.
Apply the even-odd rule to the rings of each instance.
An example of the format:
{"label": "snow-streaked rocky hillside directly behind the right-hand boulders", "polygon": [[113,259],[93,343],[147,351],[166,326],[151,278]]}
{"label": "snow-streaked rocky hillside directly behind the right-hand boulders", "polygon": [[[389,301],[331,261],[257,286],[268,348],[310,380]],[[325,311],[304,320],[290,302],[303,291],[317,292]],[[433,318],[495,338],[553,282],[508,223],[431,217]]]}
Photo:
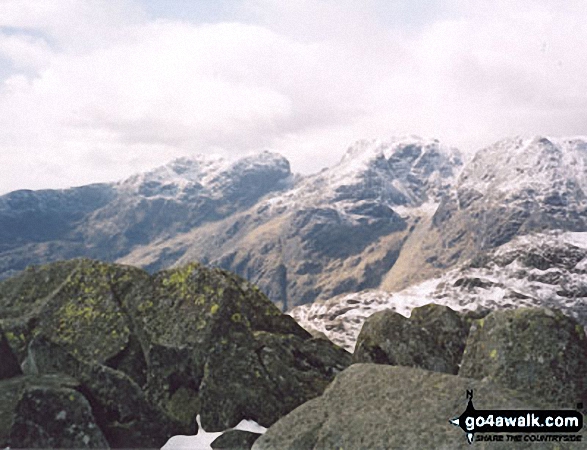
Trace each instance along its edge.
{"label": "snow-streaked rocky hillside directly behind the right-hand boulders", "polygon": [[587,232],[519,236],[478,260],[399,292],[363,291],[302,305],[289,314],[354,350],[363,322],[383,309],[408,317],[428,303],[457,311],[542,306],[587,326]]}

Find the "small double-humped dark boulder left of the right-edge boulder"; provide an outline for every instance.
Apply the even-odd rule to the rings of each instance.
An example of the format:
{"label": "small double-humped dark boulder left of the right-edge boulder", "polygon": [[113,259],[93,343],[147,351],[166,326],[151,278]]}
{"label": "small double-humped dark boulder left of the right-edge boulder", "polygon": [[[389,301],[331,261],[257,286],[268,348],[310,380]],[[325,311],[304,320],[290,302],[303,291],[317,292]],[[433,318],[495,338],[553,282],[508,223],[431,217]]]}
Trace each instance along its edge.
{"label": "small double-humped dark boulder left of the right-edge boulder", "polygon": [[409,319],[392,310],[380,311],[363,324],[353,361],[456,374],[467,331],[466,321],[446,306],[415,308]]}

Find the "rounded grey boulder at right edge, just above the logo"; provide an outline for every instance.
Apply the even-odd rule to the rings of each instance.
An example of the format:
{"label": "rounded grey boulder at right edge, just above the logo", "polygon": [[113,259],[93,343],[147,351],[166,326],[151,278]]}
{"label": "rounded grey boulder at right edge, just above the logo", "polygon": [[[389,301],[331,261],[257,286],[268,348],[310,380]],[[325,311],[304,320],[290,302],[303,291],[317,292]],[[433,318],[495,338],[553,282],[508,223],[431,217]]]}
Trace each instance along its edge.
{"label": "rounded grey boulder at right edge, just above the logo", "polygon": [[494,311],[471,327],[459,375],[573,406],[587,398],[587,339],[560,311]]}

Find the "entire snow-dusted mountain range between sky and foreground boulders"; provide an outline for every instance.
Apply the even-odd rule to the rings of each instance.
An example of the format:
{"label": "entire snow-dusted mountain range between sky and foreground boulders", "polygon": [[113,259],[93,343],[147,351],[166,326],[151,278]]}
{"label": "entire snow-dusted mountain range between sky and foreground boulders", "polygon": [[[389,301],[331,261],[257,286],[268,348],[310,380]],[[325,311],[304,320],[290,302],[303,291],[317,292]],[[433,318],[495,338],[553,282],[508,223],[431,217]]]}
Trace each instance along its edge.
{"label": "entire snow-dusted mountain range between sky and foreground boulders", "polygon": [[[324,330],[327,322],[356,330],[390,298],[465,307],[477,283],[466,280],[485,280],[496,267],[513,271],[500,265],[499,252],[512,245],[530,252],[523,239],[539,246],[586,232],[586,162],[586,139],[544,137],[502,140],[464,167],[458,150],[437,140],[360,141],[309,176],[292,174],[275,153],[181,158],[119,183],[0,197],[0,277],[79,256],[149,270],[199,260],[257,283],[284,310],[329,301],[294,315]],[[530,278],[519,283],[530,289]],[[503,306],[516,295],[546,301],[512,284],[513,275],[507,283],[492,279],[490,291],[487,280],[485,291],[471,288],[480,297],[470,304],[490,307],[502,291]],[[548,298],[557,304],[574,298],[555,294]],[[349,320],[333,325],[336,317]]]}

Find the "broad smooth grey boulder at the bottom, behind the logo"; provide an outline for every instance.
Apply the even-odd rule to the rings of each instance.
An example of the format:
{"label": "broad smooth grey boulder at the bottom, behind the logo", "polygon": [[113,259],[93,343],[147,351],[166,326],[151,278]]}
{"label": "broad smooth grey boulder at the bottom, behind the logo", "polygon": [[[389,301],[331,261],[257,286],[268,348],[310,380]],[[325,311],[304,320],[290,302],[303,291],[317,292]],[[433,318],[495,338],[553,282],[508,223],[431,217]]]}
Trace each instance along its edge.
{"label": "broad smooth grey boulder at the bottom, behind the logo", "polygon": [[[474,391],[476,409],[547,407],[531,395],[489,381],[418,368],[355,364],[338,375],[321,397],[270,427],[253,449],[470,449],[465,433],[449,423],[465,410],[468,389]],[[582,437],[585,440],[584,431]],[[474,446],[511,449],[512,443],[475,442]],[[514,448],[554,446],[522,442]]]}

